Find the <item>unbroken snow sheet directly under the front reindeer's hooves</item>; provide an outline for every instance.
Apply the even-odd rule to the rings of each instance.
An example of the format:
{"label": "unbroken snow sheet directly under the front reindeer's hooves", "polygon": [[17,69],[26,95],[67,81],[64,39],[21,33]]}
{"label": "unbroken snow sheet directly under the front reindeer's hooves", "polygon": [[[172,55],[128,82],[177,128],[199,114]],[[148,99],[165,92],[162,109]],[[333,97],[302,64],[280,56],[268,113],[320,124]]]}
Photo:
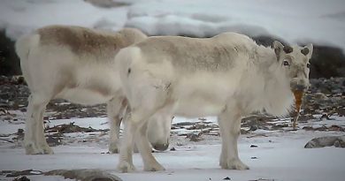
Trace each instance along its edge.
{"label": "unbroken snow sheet directly under the front reindeer's hooves", "polygon": [[[341,148],[324,147],[304,149],[303,145],[313,137],[309,132],[280,133],[272,138],[241,138],[239,152],[243,162],[250,170],[220,170],[220,142],[216,145],[193,145],[176,147],[176,151],[155,153],[158,162],[166,170],[143,172],[140,155],[134,154],[134,164],[138,171],[119,173],[116,171],[118,155],[103,155],[105,148],[59,146],[54,147],[55,155],[24,155],[24,150],[2,148],[0,151],[0,170],[56,170],[56,169],[102,169],[123,180],[232,180],[248,181],[259,178],[274,180],[334,180],[345,177],[344,156]],[[267,140],[249,147],[256,140]],[[293,144],[292,144],[293,143]],[[251,159],[257,157],[257,159]],[[39,176],[35,176],[39,177]],[[61,178],[62,180],[62,178]]]}

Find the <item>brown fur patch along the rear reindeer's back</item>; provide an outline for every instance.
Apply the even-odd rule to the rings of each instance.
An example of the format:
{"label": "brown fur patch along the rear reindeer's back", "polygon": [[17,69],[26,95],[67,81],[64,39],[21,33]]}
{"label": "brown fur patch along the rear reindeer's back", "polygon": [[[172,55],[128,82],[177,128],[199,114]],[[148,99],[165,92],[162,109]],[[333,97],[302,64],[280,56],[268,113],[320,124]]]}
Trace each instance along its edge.
{"label": "brown fur patch along the rear reindeer's back", "polygon": [[46,26],[38,29],[42,45],[68,47],[77,56],[114,57],[127,46],[119,34],[106,34],[80,26]]}

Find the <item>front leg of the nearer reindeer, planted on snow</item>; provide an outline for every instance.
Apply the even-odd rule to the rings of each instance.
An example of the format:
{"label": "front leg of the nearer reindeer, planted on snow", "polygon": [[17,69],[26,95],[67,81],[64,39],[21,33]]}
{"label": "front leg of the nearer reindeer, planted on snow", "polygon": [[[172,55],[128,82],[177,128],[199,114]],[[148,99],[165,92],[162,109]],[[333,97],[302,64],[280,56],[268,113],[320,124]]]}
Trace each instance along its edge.
{"label": "front leg of the nearer reindeer, planted on snow", "polygon": [[237,140],[241,130],[241,115],[233,110],[226,109],[218,117],[222,150],[219,165],[222,169],[248,170],[238,155]]}

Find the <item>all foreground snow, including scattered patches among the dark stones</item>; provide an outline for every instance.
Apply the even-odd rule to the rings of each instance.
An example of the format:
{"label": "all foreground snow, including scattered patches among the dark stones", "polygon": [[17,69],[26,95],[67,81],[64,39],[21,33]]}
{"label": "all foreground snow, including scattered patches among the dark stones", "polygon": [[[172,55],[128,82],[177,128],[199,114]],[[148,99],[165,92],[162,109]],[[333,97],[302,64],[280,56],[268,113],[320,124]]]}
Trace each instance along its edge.
{"label": "all foreground snow, including scattered patches among the dark stones", "polygon": [[[345,127],[344,117],[332,117],[329,120],[311,120],[303,125],[318,126],[319,124],[337,124]],[[106,118],[76,118],[69,120],[52,120],[50,126],[57,124],[74,124],[96,129],[106,129]],[[177,117],[173,124],[200,121]],[[204,122],[217,124],[214,117],[207,117]],[[1,123],[1,122],[0,122]],[[277,124],[284,121],[276,121]],[[0,135],[16,132],[24,124],[5,124],[0,126]],[[84,135],[84,139],[88,137]],[[239,140],[239,153],[242,161],[250,170],[221,170],[219,168],[220,138],[219,136],[204,136],[202,141],[191,142],[185,136],[173,134],[172,144],[175,151],[154,153],[158,162],[165,166],[165,171],[143,172],[140,155],[134,154],[134,164],[138,171],[134,173],[119,173],[116,170],[119,155],[104,154],[107,152],[107,139],[98,134],[101,141],[65,142],[63,146],[53,147],[55,155],[25,155],[22,147],[13,143],[0,141],[0,170],[58,170],[58,169],[102,169],[121,177],[123,180],[339,180],[345,177],[345,151],[343,148],[303,148],[311,139],[326,135],[343,135],[343,132],[311,132],[299,130],[263,131],[257,130],[243,134]],[[97,134],[96,134],[97,135]],[[65,134],[65,139],[77,137],[76,134]],[[80,136],[80,140],[83,139]],[[250,147],[256,145],[257,147]],[[64,180],[63,177],[31,176],[33,180]],[[0,180],[10,179],[0,176]]]}

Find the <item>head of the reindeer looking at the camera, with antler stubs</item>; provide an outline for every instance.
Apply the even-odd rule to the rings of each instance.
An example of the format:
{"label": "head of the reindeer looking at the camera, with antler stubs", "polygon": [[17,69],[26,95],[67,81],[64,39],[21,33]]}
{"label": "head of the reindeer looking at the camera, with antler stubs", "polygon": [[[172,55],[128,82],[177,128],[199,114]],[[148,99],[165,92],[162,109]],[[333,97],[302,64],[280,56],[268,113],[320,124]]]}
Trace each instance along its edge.
{"label": "head of the reindeer looking at the camera, with antler stubs", "polygon": [[285,73],[290,82],[291,90],[307,90],[310,85],[309,61],[312,55],[312,44],[305,47],[296,45],[290,47],[282,45],[279,41],[274,41],[272,47],[277,56],[281,71]]}

